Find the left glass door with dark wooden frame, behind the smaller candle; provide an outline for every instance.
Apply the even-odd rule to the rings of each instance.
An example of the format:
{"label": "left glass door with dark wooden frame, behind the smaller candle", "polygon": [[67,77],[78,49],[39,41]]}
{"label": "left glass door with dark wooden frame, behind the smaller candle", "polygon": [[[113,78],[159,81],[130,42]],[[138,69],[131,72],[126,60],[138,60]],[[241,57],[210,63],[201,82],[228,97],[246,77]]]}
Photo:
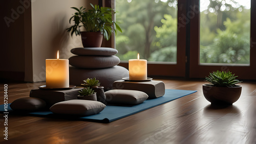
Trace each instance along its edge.
{"label": "left glass door with dark wooden frame, behind the smaller candle", "polygon": [[178,7],[177,0],[116,0],[116,21],[123,31],[115,37],[119,65],[127,68],[139,53],[148,62],[148,75],[184,77],[185,45],[179,37],[185,29],[178,30]]}

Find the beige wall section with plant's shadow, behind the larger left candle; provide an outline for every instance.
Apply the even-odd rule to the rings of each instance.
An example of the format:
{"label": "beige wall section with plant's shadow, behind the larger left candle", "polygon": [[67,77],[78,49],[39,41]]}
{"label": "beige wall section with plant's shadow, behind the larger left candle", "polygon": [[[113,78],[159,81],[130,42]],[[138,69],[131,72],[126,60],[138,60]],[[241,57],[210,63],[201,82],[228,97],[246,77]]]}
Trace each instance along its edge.
{"label": "beige wall section with plant's shadow, behind the larger left candle", "polygon": [[[45,81],[45,59],[56,58],[59,51],[61,59],[72,56],[70,50],[81,47],[80,37],[70,36],[69,18],[75,12],[70,7],[88,7],[97,1],[84,0],[36,0],[32,1],[32,66],[33,77],[25,71],[25,80]],[[28,69],[29,70],[29,69]],[[29,76],[27,76],[28,74]],[[26,79],[27,78],[27,79]]]}

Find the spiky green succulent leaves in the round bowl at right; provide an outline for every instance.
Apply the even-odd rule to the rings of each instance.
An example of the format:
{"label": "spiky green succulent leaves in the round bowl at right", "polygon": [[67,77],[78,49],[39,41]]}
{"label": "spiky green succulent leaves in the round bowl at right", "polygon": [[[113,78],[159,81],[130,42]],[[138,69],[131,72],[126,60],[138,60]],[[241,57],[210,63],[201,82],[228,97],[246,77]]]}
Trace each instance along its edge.
{"label": "spiky green succulent leaves in the round bowl at right", "polygon": [[210,73],[208,77],[205,77],[207,82],[212,83],[212,86],[219,86],[219,87],[232,87],[236,86],[236,84],[241,83],[242,81],[236,80],[234,74],[230,71],[214,71]]}

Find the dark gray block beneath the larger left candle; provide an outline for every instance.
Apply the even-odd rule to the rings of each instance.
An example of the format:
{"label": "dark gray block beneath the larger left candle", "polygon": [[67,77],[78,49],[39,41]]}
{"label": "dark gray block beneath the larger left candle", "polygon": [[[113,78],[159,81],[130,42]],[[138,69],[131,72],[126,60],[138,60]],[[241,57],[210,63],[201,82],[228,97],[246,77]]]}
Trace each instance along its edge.
{"label": "dark gray block beneath the larger left candle", "polygon": [[79,90],[82,88],[73,88],[68,90],[42,90],[42,89],[32,89],[30,91],[29,97],[39,98],[46,102],[47,107],[68,100],[77,100],[77,95]]}

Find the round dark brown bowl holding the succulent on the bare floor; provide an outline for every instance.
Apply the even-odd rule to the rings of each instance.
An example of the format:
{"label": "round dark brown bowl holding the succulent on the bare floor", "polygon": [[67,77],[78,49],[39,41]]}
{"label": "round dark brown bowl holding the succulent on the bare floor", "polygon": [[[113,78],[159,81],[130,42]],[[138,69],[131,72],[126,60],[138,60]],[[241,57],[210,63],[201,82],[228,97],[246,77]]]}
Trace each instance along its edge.
{"label": "round dark brown bowl holding the succulent on the bare floor", "polygon": [[242,86],[216,87],[207,84],[203,85],[203,94],[211,104],[233,104],[241,95]]}

